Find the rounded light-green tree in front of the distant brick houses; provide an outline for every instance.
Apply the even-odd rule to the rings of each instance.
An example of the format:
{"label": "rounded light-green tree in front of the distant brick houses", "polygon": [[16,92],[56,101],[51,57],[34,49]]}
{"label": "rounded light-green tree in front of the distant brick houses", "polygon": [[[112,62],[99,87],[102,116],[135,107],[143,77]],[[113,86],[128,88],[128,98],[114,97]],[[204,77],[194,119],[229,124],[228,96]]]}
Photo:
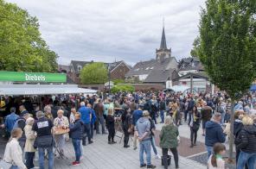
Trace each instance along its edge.
{"label": "rounded light-green tree in front of the distant brick houses", "polygon": [[104,84],[107,81],[106,66],[102,62],[84,66],[80,78],[82,84]]}

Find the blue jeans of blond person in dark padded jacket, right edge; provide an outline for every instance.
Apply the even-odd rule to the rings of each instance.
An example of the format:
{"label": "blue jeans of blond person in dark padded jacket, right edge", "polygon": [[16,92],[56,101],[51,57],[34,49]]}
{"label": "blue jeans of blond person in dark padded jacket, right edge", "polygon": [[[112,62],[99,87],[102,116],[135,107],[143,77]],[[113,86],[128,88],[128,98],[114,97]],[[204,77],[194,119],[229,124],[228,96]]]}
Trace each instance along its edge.
{"label": "blue jeans of blond person in dark padded jacket, right edge", "polygon": [[248,164],[249,169],[256,168],[256,153],[246,153],[240,151],[238,162],[237,162],[237,169],[243,169]]}

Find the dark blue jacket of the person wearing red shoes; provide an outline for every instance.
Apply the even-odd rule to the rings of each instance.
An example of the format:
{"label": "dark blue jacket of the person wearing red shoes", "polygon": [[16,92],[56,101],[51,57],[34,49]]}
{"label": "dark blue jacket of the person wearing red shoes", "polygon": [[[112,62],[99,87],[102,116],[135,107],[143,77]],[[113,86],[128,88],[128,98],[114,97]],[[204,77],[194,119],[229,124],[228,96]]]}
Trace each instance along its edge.
{"label": "dark blue jacket of the person wearing red shoes", "polygon": [[83,135],[83,125],[81,120],[76,120],[74,124],[70,124],[70,137],[72,139],[81,140]]}

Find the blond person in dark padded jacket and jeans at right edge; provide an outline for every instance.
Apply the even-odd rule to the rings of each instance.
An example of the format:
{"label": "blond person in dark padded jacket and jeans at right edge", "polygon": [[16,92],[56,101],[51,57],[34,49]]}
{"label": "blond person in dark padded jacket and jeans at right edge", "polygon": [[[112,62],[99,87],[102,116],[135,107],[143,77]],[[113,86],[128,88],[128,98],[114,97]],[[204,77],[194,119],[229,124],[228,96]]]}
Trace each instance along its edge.
{"label": "blond person in dark padded jacket and jeans at right edge", "polygon": [[242,169],[248,164],[249,169],[254,169],[256,168],[256,127],[249,116],[243,117],[242,123],[244,126],[235,139],[235,144],[240,149],[237,168]]}

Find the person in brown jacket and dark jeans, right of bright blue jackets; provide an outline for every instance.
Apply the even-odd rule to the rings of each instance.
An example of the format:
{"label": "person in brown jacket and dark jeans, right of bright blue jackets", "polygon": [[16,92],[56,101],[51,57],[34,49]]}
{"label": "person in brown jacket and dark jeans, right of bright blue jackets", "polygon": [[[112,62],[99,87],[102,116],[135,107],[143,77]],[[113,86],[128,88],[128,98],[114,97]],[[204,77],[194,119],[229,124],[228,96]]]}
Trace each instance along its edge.
{"label": "person in brown jacket and dark jeans, right of bright blue jackets", "polygon": [[99,103],[95,104],[94,107],[95,114],[96,114],[96,134],[99,134],[99,123],[101,125],[101,132],[102,135],[105,134],[105,123],[104,123],[104,104],[99,99]]}

